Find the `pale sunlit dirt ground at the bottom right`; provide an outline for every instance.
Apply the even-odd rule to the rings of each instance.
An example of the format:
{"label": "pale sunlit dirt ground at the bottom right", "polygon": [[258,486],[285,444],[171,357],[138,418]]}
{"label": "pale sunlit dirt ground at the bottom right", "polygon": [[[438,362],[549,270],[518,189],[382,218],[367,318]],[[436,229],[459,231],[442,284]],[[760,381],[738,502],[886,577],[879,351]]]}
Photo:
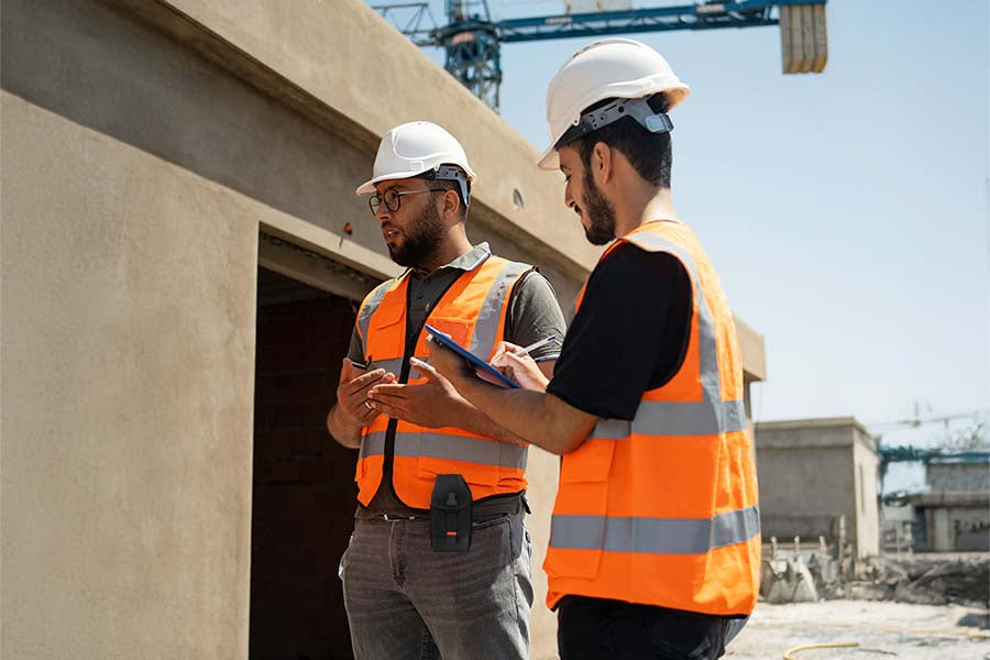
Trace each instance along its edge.
{"label": "pale sunlit dirt ground at the bottom right", "polygon": [[780,660],[796,646],[858,641],[858,648],[809,649],[792,656],[800,660],[990,660],[986,622],[986,609],[960,605],[872,601],[759,603],[724,657]]}

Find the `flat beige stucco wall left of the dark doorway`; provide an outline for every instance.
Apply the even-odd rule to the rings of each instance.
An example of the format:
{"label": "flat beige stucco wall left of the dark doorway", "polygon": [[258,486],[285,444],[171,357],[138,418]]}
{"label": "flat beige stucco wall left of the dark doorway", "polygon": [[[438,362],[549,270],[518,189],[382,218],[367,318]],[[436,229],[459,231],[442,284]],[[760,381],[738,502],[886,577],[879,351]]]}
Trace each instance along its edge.
{"label": "flat beige stucco wall left of the dark doorway", "polygon": [[246,657],[257,226],[0,94],[3,656]]}

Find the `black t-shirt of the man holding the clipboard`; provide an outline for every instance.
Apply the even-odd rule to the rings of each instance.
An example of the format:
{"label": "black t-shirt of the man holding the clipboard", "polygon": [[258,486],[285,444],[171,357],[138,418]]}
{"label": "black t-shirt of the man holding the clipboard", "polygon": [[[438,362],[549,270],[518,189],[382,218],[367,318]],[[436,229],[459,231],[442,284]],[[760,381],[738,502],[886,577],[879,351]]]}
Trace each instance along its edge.
{"label": "black t-shirt of the man holding the clipboard", "polygon": [[592,272],[547,392],[584,413],[631,420],[644,392],[681,367],[692,306],[678,257],[619,245]]}

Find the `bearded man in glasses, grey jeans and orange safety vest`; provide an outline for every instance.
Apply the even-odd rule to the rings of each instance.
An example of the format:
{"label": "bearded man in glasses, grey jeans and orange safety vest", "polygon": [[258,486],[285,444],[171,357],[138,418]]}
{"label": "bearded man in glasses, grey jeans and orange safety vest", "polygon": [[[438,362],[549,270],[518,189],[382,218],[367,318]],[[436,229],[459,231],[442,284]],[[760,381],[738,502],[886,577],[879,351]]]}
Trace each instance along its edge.
{"label": "bearded man in glasses, grey jeans and orange safety vest", "polygon": [[[333,438],[360,450],[354,534],[340,563],[358,660],[529,657],[528,444],[428,365],[424,326],[483,360],[529,345],[549,377],[564,320],[536,268],[472,245],[475,174],[461,144],[417,121],[391,130],[358,188],[406,272],[361,305]],[[432,506],[431,506],[432,505]]]}

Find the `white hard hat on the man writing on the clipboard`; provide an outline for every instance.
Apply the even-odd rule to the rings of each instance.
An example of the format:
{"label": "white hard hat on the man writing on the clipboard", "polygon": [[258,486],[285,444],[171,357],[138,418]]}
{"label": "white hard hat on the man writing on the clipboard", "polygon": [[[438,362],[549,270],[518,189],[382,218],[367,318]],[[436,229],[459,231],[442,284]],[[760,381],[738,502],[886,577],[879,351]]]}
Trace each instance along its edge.
{"label": "white hard hat on the man writing on the clipboard", "polygon": [[[558,142],[568,129],[581,123],[582,112],[603,99],[639,99],[664,92],[668,109],[672,110],[690,91],[660,53],[646,44],[631,38],[606,38],[588,44],[571,55],[550,80],[547,89],[550,146],[540,155],[537,166],[559,167],[557,148],[561,145]],[[647,118],[636,119],[646,125]],[[659,123],[662,122],[658,122],[658,130]],[[666,123],[670,130],[669,121]]]}

